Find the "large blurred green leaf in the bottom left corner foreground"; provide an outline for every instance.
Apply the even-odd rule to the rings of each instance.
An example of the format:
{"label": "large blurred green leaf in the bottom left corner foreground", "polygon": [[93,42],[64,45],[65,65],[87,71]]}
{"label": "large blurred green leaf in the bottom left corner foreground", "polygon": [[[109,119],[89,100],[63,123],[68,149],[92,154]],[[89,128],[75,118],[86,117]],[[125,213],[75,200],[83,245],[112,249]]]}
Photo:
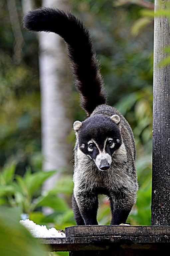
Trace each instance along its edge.
{"label": "large blurred green leaf in the bottom left corner foreground", "polygon": [[45,256],[38,239],[20,223],[20,210],[0,206],[0,255]]}

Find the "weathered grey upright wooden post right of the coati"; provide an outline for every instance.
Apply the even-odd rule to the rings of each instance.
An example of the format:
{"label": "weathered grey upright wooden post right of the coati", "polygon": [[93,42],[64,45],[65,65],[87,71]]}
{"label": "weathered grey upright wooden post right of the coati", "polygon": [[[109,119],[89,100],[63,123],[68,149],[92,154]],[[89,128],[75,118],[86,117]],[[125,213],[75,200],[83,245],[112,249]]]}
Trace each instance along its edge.
{"label": "weathered grey upright wooden post right of the coati", "polygon": [[[155,10],[166,8],[155,0]],[[168,0],[169,2],[169,0]],[[152,225],[170,225],[170,65],[158,68],[170,46],[168,19],[155,17],[153,74]]]}

